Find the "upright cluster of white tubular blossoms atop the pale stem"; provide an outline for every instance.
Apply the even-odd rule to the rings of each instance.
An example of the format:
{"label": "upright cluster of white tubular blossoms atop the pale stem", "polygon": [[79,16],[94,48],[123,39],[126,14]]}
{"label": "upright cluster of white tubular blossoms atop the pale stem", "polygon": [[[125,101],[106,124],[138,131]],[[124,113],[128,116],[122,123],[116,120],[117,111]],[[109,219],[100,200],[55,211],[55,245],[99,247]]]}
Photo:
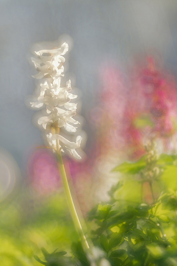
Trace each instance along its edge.
{"label": "upright cluster of white tubular blossoms atop the pale stem", "polygon": [[56,140],[59,140],[61,151],[64,151],[63,148],[65,148],[75,158],[81,159],[75,149],[80,147],[82,137],[78,136],[75,143],[59,135],[61,127],[68,132],[76,132],[77,127],[70,123],[79,124],[78,121],[73,119],[76,114],[77,103],[70,103],[72,99],[77,98],[77,95],[70,93],[71,81],[68,80],[65,87],[60,87],[61,77],[64,76],[62,74],[65,62],[63,55],[67,51],[68,44],[63,43],[61,48],[58,49],[35,52],[37,59],[31,59],[39,73],[32,77],[45,79],[45,82],[40,84],[40,96],[37,98],[37,102],[31,103],[31,105],[37,108],[42,107],[43,104],[46,105],[48,116],[40,117],[38,124],[42,125],[49,133],[47,134],[47,141],[53,151],[57,150]]}

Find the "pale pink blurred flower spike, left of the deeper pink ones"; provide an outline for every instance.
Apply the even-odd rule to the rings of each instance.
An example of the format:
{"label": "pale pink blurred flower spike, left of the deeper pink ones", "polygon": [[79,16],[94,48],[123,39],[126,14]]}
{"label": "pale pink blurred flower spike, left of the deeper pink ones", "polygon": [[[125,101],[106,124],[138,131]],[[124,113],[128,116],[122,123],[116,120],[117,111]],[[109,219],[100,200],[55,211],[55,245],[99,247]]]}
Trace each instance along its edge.
{"label": "pale pink blurred flower spike, left of the deeper pink ones", "polygon": [[110,150],[120,150],[123,139],[119,137],[116,129],[121,124],[127,99],[125,77],[117,67],[103,65],[100,80],[99,108],[94,108],[97,115],[93,115],[91,110],[91,119],[98,118],[96,150],[99,154],[97,155],[106,154]]}

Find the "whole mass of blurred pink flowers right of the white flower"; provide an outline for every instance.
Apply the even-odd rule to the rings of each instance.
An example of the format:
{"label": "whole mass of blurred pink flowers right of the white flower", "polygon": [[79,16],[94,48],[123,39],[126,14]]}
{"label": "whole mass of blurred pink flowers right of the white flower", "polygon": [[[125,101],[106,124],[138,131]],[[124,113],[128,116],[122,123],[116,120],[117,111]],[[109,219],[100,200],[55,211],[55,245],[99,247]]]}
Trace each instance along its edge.
{"label": "whole mass of blurred pink flowers right of the white flower", "polygon": [[[141,65],[130,68],[127,79],[114,67],[101,70],[100,105],[95,117],[99,121],[97,146],[102,154],[111,149],[126,150],[131,159],[137,160],[145,153],[145,135],[160,137],[167,146],[165,138],[175,132],[177,90],[174,78],[166,70],[157,70],[153,57],[148,57],[147,61],[146,68]],[[143,115],[152,120],[153,127],[137,127],[135,121]]]}

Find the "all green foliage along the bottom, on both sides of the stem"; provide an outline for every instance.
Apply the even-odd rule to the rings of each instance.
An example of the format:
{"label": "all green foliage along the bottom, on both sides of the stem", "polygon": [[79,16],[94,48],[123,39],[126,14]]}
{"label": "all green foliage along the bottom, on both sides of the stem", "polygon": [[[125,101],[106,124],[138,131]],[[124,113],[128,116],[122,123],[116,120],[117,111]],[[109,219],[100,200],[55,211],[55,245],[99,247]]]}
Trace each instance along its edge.
{"label": "all green foliage along the bottom, on both sides of the stem", "polygon": [[[153,142],[146,150],[139,161],[112,170],[122,179],[110,201],[88,213],[90,237],[106,266],[177,265],[177,155],[158,156]],[[24,190],[1,204],[1,265],[90,266],[64,194],[30,195]]]}

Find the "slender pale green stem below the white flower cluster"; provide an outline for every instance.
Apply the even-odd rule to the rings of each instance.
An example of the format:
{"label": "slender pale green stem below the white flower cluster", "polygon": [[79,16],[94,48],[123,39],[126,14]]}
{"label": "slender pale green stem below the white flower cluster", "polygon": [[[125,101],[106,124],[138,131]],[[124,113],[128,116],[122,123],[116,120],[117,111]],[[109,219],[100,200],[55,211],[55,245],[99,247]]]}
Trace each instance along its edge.
{"label": "slender pale green stem below the white flower cluster", "polygon": [[62,177],[62,180],[63,180],[63,185],[64,185],[64,188],[65,188],[65,193],[66,193],[66,197],[67,197],[68,204],[69,204],[69,207],[70,207],[71,215],[72,215],[73,222],[74,222],[74,225],[76,227],[76,230],[78,231],[79,236],[81,238],[81,243],[82,243],[83,249],[85,251],[87,251],[89,249],[89,245],[88,245],[86,237],[85,237],[85,235],[83,233],[82,226],[81,226],[81,223],[79,221],[79,218],[78,218],[75,206],[74,206],[74,202],[73,202],[73,199],[72,199],[72,196],[71,196],[71,192],[70,192],[70,189],[69,189],[68,180],[67,180],[67,177],[66,177],[65,168],[64,168],[64,165],[63,165],[63,160],[62,160],[61,151],[60,151],[59,147],[60,147],[59,146],[59,140],[56,140],[57,158],[58,158],[58,163],[59,163],[59,166],[60,166],[60,173],[61,173],[61,177]]}

